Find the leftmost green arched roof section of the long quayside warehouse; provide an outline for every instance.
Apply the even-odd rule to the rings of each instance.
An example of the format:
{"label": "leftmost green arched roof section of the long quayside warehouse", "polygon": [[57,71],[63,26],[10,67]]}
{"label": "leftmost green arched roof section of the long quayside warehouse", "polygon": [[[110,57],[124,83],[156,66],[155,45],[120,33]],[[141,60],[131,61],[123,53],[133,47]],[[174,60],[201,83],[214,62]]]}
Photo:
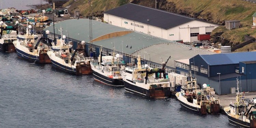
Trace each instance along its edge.
{"label": "leftmost green arched roof section of the long quayside warehouse", "polygon": [[[106,24],[103,22],[98,22],[96,20],[92,20],[93,25],[93,39],[100,37],[102,35],[117,32],[117,31],[131,31],[129,29],[117,27],[114,25]],[[89,19],[68,19],[58,23],[55,23],[55,28],[63,29],[63,35],[66,35],[69,38],[76,39],[76,40],[84,40],[85,42],[89,42]],[[53,25],[43,29],[49,30],[53,33]],[[68,32],[66,32],[68,31]],[[60,32],[55,29],[55,34],[59,34]]]}

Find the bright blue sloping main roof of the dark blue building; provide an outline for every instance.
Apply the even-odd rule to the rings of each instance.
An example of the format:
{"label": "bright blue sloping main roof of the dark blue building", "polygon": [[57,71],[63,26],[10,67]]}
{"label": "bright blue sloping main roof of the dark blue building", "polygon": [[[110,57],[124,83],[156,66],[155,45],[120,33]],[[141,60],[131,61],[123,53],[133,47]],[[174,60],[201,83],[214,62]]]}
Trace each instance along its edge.
{"label": "bright blue sloping main roof of the dark blue building", "polygon": [[256,60],[256,52],[221,53],[214,55],[200,55],[209,65],[236,64],[241,61]]}

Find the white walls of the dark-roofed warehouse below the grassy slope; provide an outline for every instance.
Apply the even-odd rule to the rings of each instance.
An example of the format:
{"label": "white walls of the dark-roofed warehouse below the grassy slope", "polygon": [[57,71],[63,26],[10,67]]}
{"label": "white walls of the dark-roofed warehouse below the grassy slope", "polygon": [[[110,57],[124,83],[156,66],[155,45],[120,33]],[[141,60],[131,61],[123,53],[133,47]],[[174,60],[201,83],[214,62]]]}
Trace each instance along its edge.
{"label": "white walls of the dark-roofed warehouse below the grassy slope", "polygon": [[150,34],[155,37],[172,41],[183,40],[183,42],[192,42],[194,40],[197,40],[197,37],[190,37],[190,28],[199,28],[199,34],[205,34],[206,32],[210,32],[211,30],[219,26],[200,20],[192,20],[191,22],[166,30],[108,14],[104,14],[104,21],[109,24],[111,23],[115,26],[124,27],[145,34]]}

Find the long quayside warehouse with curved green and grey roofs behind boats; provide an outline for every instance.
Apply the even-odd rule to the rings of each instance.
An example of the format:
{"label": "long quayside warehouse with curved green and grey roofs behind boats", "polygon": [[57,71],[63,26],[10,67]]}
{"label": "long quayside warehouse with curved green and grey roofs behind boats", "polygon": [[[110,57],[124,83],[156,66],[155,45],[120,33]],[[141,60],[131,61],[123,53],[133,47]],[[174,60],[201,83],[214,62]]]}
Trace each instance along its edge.
{"label": "long quayside warehouse with curved green and grey roofs behind boats", "polygon": [[[69,19],[56,23],[55,37],[58,39],[61,37],[61,32],[58,29],[62,27],[62,35],[66,35],[66,42],[73,42],[74,49],[77,47],[77,43],[85,41],[87,54],[90,55],[88,47],[92,45],[93,56],[97,57],[101,46],[103,47],[103,55],[112,55],[113,47],[115,47],[115,53],[119,53],[120,59],[125,63],[137,63],[137,56],[141,55],[142,64],[147,63],[153,68],[161,68],[161,62],[166,61],[171,56],[167,63],[166,72],[181,73],[181,70],[175,69],[174,60],[189,59],[198,54],[214,54],[204,49],[156,38],[95,20],[92,20],[92,24],[93,43],[90,43],[89,40],[89,19]],[[54,39],[53,25],[44,29],[44,31],[46,30],[49,30],[50,34],[44,36]],[[183,73],[188,74],[188,71],[183,71]]]}

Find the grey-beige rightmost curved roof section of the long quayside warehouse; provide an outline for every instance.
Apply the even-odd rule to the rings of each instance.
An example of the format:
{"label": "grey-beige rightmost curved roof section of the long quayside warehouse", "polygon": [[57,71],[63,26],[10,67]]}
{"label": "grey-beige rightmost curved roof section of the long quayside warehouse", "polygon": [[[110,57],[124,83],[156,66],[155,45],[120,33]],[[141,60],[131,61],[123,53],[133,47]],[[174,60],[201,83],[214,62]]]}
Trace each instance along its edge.
{"label": "grey-beige rightmost curved roof section of the long quayside warehouse", "polygon": [[[146,47],[144,49],[140,49],[139,55],[141,55],[142,58],[144,58],[144,50],[145,59],[149,60],[150,57],[150,60],[155,63],[161,63],[161,58],[163,58],[163,61],[166,61],[169,58],[169,56],[171,56],[171,59],[168,61],[167,66],[173,68],[175,67],[174,60],[189,59],[198,54],[216,54],[205,49],[196,48],[174,41],[172,41],[171,43],[161,43]],[[137,53],[134,53],[132,55],[136,56]]]}

